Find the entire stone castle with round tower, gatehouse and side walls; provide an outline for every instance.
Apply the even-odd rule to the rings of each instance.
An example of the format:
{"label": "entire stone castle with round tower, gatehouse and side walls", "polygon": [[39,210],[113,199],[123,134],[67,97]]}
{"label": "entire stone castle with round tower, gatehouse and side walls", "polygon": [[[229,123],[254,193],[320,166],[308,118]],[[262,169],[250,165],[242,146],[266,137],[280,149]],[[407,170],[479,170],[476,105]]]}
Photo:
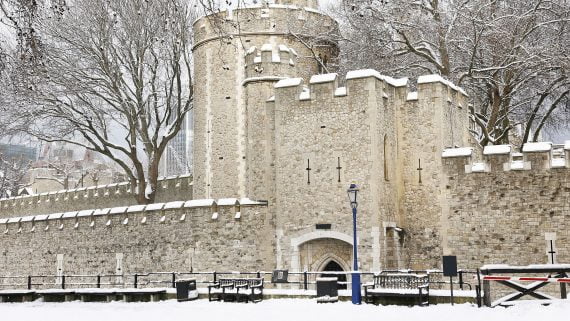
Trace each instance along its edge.
{"label": "entire stone castle with round tower, gatehouse and side walls", "polygon": [[0,200],[2,273],[350,271],[351,183],[361,270],[547,263],[549,240],[570,259],[570,144],[477,147],[439,76],[318,74],[337,49],[299,38],[336,26],[316,3],[196,21],[193,180],[149,205],[126,183]]}

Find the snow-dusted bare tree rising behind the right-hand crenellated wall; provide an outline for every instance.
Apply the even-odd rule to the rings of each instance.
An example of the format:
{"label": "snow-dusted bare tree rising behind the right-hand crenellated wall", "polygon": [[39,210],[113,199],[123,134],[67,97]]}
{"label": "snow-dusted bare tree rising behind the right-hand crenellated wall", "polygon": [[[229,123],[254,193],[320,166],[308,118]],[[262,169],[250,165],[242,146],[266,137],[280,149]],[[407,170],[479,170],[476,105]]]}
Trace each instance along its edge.
{"label": "snow-dusted bare tree rising behind the right-hand crenellated wall", "polygon": [[466,88],[482,145],[507,142],[516,125],[536,140],[568,99],[567,1],[345,0],[337,17],[351,68]]}

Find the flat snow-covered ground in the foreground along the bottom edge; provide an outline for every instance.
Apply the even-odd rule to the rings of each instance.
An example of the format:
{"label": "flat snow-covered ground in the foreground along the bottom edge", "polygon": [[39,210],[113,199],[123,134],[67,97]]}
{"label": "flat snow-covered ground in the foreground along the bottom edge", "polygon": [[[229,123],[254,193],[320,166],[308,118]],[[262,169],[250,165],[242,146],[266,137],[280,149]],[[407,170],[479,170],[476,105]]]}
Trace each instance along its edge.
{"label": "flat snow-covered ground in the foreground along the bottom edge", "polygon": [[469,304],[430,307],[352,305],[350,302],[317,304],[314,300],[266,300],[258,304],[175,300],[156,303],[0,303],[2,321],[557,321],[570,320],[570,300],[550,306],[523,304],[510,308],[481,308]]}

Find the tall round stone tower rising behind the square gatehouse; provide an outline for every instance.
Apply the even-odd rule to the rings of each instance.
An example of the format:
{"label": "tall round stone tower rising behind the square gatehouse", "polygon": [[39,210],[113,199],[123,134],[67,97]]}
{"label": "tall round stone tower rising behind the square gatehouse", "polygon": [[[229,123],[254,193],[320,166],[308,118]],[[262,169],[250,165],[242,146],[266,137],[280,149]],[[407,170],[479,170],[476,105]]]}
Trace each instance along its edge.
{"label": "tall round stone tower rising behind the square gatehouse", "polygon": [[337,52],[333,42],[303,44],[338,30],[315,8],[313,0],[277,0],[194,23],[194,198],[251,197],[248,162],[266,139],[251,123],[262,121],[273,84],[308,80],[322,70],[315,58]]}

